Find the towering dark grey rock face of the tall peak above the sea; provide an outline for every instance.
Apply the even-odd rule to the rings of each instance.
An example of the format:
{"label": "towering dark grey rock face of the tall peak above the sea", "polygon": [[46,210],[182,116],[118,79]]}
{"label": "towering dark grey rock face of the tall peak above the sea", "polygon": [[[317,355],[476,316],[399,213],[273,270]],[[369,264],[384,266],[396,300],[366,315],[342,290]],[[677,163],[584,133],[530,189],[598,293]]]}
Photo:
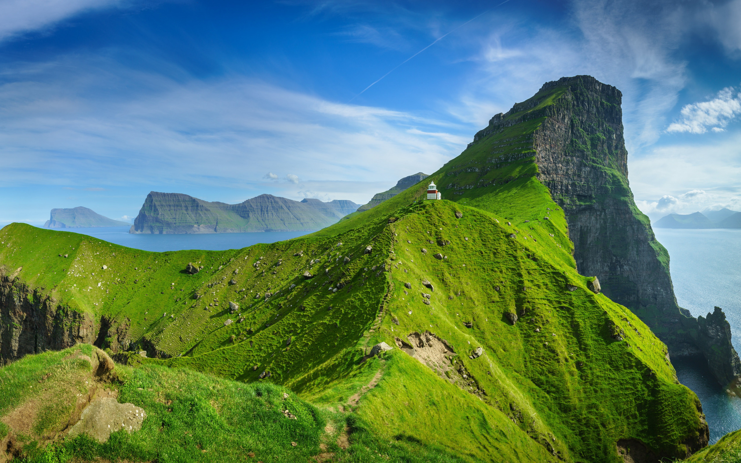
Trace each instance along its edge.
{"label": "towering dark grey rock face of the tall peak above the sea", "polygon": [[[622,94],[591,76],[548,82],[539,93],[558,96],[528,116],[545,117],[533,137],[538,179],[566,213],[579,273],[597,276],[605,295],[636,313],[671,355],[702,353],[727,384],[741,367],[725,316],[717,309],[698,323],[677,305],[668,253],[628,186]],[[490,127],[498,123],[493,119]]]}

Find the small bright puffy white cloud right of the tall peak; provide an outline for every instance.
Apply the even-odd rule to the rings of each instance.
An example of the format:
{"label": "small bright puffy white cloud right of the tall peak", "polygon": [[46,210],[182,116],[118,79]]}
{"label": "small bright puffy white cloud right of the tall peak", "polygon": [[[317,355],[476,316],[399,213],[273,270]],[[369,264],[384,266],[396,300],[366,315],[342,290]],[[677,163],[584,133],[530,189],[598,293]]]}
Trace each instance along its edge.
{"label": "small bright puffy white cloud right of the tall peak", "polygon": [[721,132],[731,119],[741,114],[741,92],[734,87],[726,87],[710,101],[686,104],[682,107],[682,120],[674,122],[667,132],[705,133],[708,127],[714,132]]}

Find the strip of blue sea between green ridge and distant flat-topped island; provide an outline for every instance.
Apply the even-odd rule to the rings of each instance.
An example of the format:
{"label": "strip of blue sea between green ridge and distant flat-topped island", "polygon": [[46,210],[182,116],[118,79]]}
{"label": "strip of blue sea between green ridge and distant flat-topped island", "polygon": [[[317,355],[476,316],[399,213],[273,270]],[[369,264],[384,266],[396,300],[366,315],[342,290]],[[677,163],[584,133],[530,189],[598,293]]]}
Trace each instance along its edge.
{"label": "strip of blue sea between green ridge and distant flat-topped island", "polygon": [[129,227],[64,228],[62,231],[82,233],[145,251],[176,251],[184,249],[227,250],[240,249],[258,243],[274,243],[296,238],[311,232],[257,232],[257,233],[178,233],[130,234]]}

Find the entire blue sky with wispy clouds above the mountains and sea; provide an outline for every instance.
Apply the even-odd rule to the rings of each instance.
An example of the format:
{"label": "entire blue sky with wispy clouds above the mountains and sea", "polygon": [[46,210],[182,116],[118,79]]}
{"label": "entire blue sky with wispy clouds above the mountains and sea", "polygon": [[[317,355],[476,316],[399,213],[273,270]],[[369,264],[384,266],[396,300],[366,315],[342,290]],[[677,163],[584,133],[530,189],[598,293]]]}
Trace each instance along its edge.
{"label": "entire blue sky with wispy clouds above the mountains and sea", "polygon": [[741,210],[740,24],[741,0],[0,0],[0,225],[150,190],[362,204],[577,74],[622,90],[642,210]]}

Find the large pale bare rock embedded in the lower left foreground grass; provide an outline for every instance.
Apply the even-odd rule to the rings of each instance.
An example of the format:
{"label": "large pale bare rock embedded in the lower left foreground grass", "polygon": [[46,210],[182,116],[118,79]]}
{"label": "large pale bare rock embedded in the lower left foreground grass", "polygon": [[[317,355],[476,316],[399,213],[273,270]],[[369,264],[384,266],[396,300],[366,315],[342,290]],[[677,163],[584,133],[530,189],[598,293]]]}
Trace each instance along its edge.
{"label": "large pale bare rock embedded in the lower left foreground grass", "polygon": [[95,399],[82,410],[80,421],[70,429],[68,436],[86,433],[98,442],[107,442],[113,431],[124,429],[131,433],[142,429],[146,417],[144,409],[134,404],[119,404],[112,397]]}

